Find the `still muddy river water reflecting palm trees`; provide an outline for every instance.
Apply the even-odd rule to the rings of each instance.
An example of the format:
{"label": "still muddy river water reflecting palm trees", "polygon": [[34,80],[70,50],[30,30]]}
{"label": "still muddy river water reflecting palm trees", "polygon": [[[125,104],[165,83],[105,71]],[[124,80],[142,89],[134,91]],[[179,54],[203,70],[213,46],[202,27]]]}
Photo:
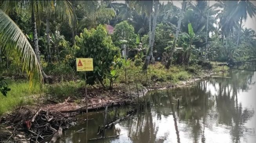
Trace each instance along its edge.
{"label": "still muddy river water reflecting palm trees", "polygon": [[[256,71],[233,69],[224,76],[230,78],[212,77],[189,88],[148,93],[145,100],[153,102],[152,107],[105,130],[105,136],[118,137],[89,143],[256,143]],[[117,109],[123,116],[131,107]],[[107,119],[113,116],[110,108]],[[103,110],[88,118],[93,118],[88,121],[88,139],[99,138]],[[86,131],[77,132],[82,128],[86,122],[65,130],[58,143],[85,143]]]}

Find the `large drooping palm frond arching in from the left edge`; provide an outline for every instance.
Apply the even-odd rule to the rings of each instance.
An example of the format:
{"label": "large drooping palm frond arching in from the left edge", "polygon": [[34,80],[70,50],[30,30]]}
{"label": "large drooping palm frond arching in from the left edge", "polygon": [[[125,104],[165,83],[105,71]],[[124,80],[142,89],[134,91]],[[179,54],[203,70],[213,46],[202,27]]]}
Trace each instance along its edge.
{"label": "large drooping palm frond arching in from the left edge", "polygon": [[27,73],[31,86],[34,81],[42,82],[40,65],[32,46],[22,30],[2,10],[0,10],[0,27],[2,50],[5,50],[8,56],[13,57],[13,60],[22,66],[22,71]]}

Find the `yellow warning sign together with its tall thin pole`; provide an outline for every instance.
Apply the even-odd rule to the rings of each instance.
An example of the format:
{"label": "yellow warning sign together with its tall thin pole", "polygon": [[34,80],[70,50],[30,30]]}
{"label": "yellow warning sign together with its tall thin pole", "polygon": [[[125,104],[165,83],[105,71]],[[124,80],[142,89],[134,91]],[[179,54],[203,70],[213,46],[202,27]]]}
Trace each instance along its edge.
{"label": "yellow warning sign together with its tall thin pole", "polygon": [[87,131],[88,131],[88,102],[87,102],[87,79],[86,79],[86,71],[93,71],[93,59],[92,59],[92,58],[76,58],[76,71],[84,71],[84,76],[85,76],[86,143],[87,143]]}

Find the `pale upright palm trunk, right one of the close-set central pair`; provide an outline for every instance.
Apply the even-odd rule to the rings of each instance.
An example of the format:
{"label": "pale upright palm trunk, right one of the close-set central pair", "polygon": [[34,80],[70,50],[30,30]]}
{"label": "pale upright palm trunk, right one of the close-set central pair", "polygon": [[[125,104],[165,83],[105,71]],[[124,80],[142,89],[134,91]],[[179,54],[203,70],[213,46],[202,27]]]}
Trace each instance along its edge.
{"label": "pale upright palm trunk, right one of the close-set central pair", "polygon": [[153,46],[154,46],[154,38],[155,38],[155,33],[156,33],[156,18],[157,18],[157,14],[158,14],[158,5],[159,5],[159,0],[155,0],[154,3],[154,19],[153,19],[153,27],[152,27],[152,36],[151,36],[151,63],[155,63],[154,61],[154,57],[153,57]]}

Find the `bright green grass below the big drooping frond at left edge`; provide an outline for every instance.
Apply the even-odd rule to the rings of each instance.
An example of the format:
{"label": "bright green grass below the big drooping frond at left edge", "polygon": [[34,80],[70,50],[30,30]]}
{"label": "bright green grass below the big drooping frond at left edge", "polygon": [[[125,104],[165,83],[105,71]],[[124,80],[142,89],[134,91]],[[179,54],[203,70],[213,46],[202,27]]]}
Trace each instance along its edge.
{"label": "bright green grass below the big drooping frond at left edge", "polygon": [[30,88],[27,80],[7,80],[7,84],[11,91],[7,93],[7,97],[0,94],[0,115],[15,107],[32,104],[34,98],[28,96],[42,93],[39,85]]}

